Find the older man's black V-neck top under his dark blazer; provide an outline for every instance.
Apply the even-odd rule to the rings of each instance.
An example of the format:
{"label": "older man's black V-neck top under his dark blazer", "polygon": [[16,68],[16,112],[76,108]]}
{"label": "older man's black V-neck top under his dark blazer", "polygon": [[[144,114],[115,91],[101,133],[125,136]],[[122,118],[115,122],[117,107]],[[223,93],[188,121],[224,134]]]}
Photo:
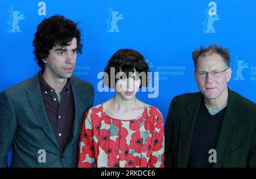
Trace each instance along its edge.
{"label": "older man's black V-neck top under his dark blazer", "polygon": [[[212,163],[209,163],[209,156],[212,155],[209,154],[209,150],[216,149],[225,109],[226,107],[212,116],[202,100],[193,130],[188,167],[212,167]],[[218,154],[218,151],[216,152]]]}

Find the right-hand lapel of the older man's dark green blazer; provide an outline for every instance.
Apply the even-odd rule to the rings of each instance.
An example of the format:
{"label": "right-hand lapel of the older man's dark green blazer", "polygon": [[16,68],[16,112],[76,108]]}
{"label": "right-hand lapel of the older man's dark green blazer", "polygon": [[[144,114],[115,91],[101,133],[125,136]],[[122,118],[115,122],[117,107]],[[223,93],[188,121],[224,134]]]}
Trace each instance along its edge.
{"label": "right-hand lapel of the older man's dark green blazer", "polygon": [[217,163],[213,163],[212,167],[221,167],[221,164],[224,162],[225,156],[229,151],[230,142],[232,141],[235,131],[236,125],[234,121],[236,121],[235,118],[237,116],[236,99],[234,98],[232,91],[229,90],[228,94],[228,105],[226,106],[226,111],[216,144]]}

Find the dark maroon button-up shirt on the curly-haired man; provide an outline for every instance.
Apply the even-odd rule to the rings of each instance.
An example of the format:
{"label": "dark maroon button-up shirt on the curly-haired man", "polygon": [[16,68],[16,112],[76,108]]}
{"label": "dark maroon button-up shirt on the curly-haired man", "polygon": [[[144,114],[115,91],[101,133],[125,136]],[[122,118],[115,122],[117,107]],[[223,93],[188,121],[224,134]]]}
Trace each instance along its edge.
{"label": "dark maroon button-up shirt on the curly-haired man", "polygon": [[55,90],[44,80],[42,71],[39,73],[39,83],[48,120],[52,125],[61,150],[64,150],[65,145],[71,137],[75,117],[71,80],[68,79],[63,91],[60,92],[60,103]]}

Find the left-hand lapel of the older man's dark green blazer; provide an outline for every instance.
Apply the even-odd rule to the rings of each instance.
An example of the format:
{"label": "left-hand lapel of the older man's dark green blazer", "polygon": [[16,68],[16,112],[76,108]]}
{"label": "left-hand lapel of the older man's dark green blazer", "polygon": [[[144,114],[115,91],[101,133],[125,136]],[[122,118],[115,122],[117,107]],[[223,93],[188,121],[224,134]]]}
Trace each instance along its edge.
{"label": "left-hand lapel of the older man's dark green blazer", "polygon": [[177,167],[188,167],[188,159],[191,148],[191,140],[193,135],[193,130],[195,127],[195,122],[197,118],[197,113],[199,111],[201,100],[201,93],[195,96],[195,99],[189,103],[187,108],[187,113],[180,119],[180,130],[179,130],[179,147],[178,147],[178,160]]}

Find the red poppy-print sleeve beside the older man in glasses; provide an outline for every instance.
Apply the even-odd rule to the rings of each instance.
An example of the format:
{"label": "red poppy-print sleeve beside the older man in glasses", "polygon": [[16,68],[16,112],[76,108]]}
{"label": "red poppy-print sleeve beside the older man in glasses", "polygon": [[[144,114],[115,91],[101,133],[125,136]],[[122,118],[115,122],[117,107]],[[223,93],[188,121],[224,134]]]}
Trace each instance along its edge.
{"label": "red poppy-print sleeve beside the older man in glasses", "polygon": [[154,146],[150,156],[150,168],[164,168],[164,122],[159,110],[156,112]]}

